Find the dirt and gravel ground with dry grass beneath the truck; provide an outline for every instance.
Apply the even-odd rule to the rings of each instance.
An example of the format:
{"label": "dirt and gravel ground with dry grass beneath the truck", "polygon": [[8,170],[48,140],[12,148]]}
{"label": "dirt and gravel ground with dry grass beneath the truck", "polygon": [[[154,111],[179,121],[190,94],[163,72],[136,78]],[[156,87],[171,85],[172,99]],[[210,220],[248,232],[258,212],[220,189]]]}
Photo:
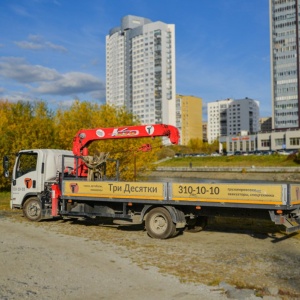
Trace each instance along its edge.
{"label": "dirt and gravel ground with dry grass beneath the truck", "polygon": [[0,299],[300,299],[300,233],[281,229],[215,218],[156,240],[142,225],[0,211]]}

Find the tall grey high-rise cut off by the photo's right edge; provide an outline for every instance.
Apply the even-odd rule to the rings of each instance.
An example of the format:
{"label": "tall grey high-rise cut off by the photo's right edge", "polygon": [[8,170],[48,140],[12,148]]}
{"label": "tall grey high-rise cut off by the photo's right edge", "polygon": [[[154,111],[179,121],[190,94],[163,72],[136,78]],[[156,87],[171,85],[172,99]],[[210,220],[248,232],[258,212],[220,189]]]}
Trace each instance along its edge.
{"label": "tall grey high-rise cut off by the photo's right edge", "polygon": [[272,127],[300,127],[299,1],[269,0]]}

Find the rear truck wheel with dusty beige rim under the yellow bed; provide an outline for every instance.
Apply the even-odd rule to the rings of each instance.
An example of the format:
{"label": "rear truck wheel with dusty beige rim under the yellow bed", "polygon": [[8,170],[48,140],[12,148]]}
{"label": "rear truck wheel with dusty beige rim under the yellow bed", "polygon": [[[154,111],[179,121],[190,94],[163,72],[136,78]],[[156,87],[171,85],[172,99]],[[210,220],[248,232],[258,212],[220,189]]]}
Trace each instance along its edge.
{"label": "rear truck wheel with dusty beige rim under the yellow bed", "polygon": [[163,207],[152,209],[146,218],[146,230],[155,239],[167,239],[176,233],[170,213]]}

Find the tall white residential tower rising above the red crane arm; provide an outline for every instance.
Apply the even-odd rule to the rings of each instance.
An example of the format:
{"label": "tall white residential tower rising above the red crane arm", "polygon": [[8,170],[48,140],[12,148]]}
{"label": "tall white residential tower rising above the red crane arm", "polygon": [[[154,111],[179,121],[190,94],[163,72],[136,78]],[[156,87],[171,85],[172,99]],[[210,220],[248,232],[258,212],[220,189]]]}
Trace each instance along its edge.
{"label": "tall white residential tower rising above the red crane arm", "polygon": [[106,36],[106,102],[142,124],[176,123],[175,25],[125,16]]}

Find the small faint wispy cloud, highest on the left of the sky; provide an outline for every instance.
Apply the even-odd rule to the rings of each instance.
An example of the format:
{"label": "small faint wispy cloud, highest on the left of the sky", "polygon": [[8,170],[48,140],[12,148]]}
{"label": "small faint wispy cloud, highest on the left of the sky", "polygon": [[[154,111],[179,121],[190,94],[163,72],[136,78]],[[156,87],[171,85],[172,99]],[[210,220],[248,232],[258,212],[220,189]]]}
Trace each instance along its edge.
{"label": "small faint wispy cloud, highest on the left of the sky", "polygon": [[14,42],[18,47],[29,50],[54,50],[59,52],[67,52],[68,50],[60,45],[45,41],[39,35],[29,35],[27,41]]}

